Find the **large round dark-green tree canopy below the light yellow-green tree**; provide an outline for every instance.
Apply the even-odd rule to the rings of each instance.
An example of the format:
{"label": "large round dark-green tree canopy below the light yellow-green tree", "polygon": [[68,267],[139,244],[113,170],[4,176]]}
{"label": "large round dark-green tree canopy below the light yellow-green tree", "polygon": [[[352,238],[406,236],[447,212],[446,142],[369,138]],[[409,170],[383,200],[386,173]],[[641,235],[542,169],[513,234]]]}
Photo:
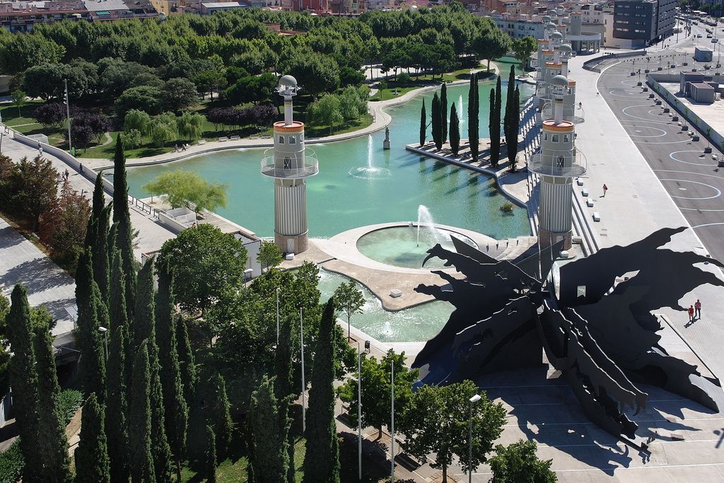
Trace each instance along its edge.
{"label": "large round dark-green tree canopy below the light yellow-green tree", "polygon": [[246,248],[210,224],[183,230],[161,248],[159,263],[174,274],[176,301],[187,311],[205,311],[227,290],[243,285]]}

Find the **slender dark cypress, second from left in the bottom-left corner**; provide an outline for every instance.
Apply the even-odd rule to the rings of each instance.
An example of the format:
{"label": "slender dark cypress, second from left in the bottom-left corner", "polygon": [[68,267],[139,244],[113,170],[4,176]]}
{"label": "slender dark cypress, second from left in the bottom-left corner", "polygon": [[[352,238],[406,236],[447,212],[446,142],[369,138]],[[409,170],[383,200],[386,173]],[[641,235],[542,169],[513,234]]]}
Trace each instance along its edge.
{"label": "slender dark cypress, second from left in the bottom-left corner", "polygon": [[48,325],[35,327],[35,357],[38,365],[38,440],[35,445],[42,459],[26,461],[41,466],[43,482],[70,482],[68,440],[60,414],[60,387],[55,368],[53,337]]}

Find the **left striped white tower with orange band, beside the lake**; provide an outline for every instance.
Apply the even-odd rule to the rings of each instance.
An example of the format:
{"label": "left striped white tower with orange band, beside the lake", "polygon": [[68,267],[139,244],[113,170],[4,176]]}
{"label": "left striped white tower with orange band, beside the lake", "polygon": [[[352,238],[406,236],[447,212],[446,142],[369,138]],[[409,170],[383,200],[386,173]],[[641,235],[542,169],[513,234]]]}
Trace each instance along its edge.
{"label": "left striped white tower with orange band, beside the lake", "polygon": [[292,119],[292,96],[297,80],[279,79],[284,97],[284,120],[274,122],[274,148],[264,151],[261,174],[274,178],[274,243],[283,253],[301,253],[308,247],[306,178],[319,172],[311,149],[304,148],[304,123]]}

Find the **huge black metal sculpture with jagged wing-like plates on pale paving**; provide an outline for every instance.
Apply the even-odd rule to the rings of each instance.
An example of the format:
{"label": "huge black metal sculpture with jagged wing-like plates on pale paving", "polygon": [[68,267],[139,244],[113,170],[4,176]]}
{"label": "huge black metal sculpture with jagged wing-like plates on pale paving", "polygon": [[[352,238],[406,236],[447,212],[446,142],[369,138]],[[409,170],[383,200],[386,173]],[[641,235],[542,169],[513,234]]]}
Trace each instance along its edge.
{"label": "huge black metal sculpture with jagged wing-like plates on pale paving", "polygon": [[[605,248],[563,265],[557,275],[552,254],[560,246],[534,247],[513,261],[498,261],[455,238],[458,253],[435,245],[425,261],[443,259],[466,278],[436,271],[447,285],[415,289],[455,306],[413,363],[421,382],[450,384],[489,371],[539,366],[545,351],[586,416],[617,437],[633,439],[638,427],[624,408],[638,413],[647,403],[648,395],[633,380],[719,411],[724,408],[719,380],[669,356],[659,345],[662,327],[652,314],[662,307],[683,309],[678,300],[704,283],[724,286],[715,274],[694,266],[724,266],[719,261],[661,248],[683,230],[666,228],[626,247]],[[637,273],[620,278],[630,272]]]}

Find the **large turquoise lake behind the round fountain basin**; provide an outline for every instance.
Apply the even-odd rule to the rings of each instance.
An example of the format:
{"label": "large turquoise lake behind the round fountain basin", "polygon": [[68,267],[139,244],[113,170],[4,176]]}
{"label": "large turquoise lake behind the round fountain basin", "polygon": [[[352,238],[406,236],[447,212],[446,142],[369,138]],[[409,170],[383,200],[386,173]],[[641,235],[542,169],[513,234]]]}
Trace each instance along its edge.
{"label": "large turquoise lake behind the round fountain basin", "polygon": [[[492,86],[492,81],[480,83],[481,137],[487,137]],[[521,99],[533,91],[527,84],[520,84],[520,89]],[[392,116],[389,151],[382,149],[384,130],[369,137],[309,146],[319,159],[319,175],[307,179],[311,237],[326,238],[367,224],[416,221],[419,205],[429,208],[436,223],[498,239],[529,234],[526,210],[516,206],[512,216],[504,216],[499,206],[505,199],[492,180],[405,151],[405,144],[419,140],[421,104],[425,99],[429,113],[432,95],[432,91],[424,93],[387,110]],[[462,114],[462,138],[468,137],[467,97],[468,85],[447,89],[448,106],[455,102],[458,115]],[[502,100],[505,102],[505,89]],[[195,171],[206,180],[227,183],[228,205],[217,209],[219,214],[258,236],[270,237],[274,235],[274,188],[273,180],[259,171],[263,151],[223,151],[173,164],[132,168],[127,175],[130,193],[149,196],[142,186],[169,169]]]}

